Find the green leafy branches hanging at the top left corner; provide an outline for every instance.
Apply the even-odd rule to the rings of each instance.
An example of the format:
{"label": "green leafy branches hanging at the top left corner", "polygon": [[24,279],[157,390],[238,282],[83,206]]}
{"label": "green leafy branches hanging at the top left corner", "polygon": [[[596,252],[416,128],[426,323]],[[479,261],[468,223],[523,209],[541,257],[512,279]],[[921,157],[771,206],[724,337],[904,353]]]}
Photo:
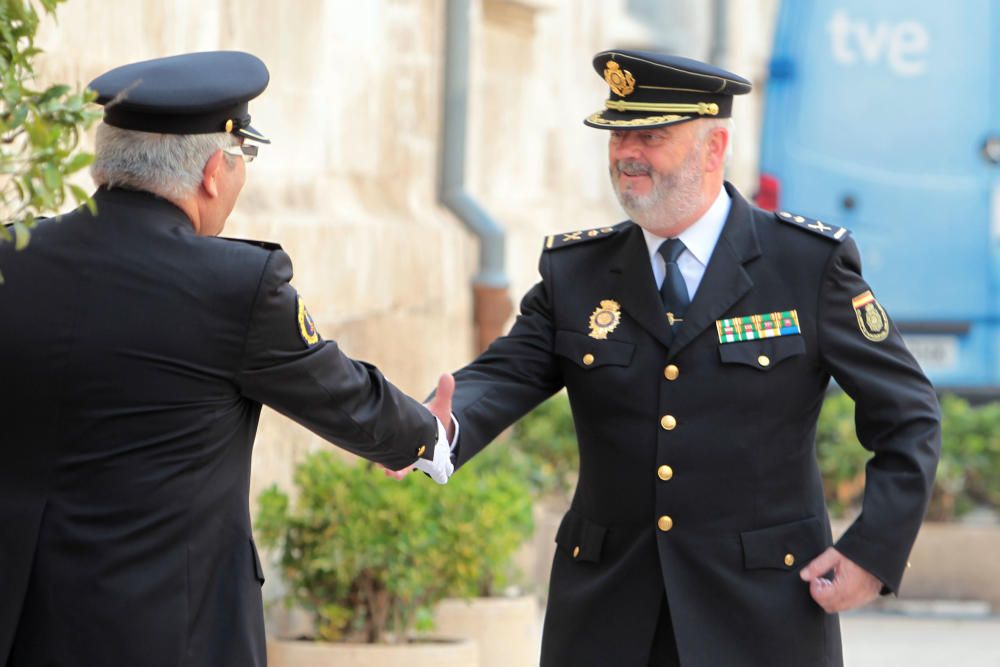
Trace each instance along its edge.
{"label": "green leafy branches hanging at the top left corner", "polygon": [[[65,0],[37,0],[55,15]],[[0,211],[10,229],[0,226],[0,243],[28,244],[30,229],[42,213],[58,211],[69,191],[77,203],[93,202],[66,177],[93,160],[75,152],[80,130],[100,117],[87,103],[94,94],[66,85],[35,87],[34,59],[39,16],[32,0],[0,0]],[[2,278],[0,278],[2,280]]]}

